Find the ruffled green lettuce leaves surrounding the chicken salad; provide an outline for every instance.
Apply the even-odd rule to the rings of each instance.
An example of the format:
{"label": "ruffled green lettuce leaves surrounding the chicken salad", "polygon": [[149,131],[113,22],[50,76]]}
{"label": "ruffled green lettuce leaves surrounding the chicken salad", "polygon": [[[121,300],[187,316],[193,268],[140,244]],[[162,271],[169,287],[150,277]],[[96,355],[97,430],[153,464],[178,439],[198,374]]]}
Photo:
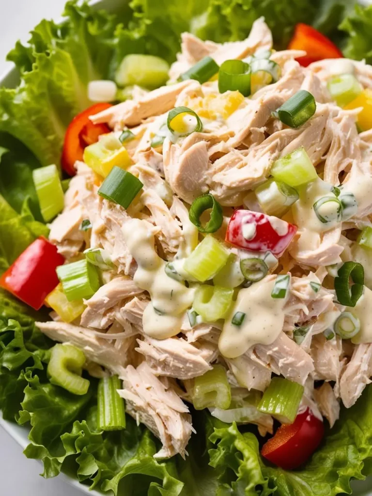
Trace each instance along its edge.
{"label": "ruffled green lettuce leaves surrounding the chicken salad", "polygon": [[[112,77],[128,53],[172,62],[185,30],[218,42],[244,38],[261,15],[277,48],[286,46],[296,22],[311,21],[346,56],[372,63],[372,7],[351,0],[133,0],[115,14],[69,1],[61,25],[43,20],[27,46],[17,43],[8,58],[21,82],[0,89],[0,273],[48,234],[32,170],[59,164],[67,124],[89,105],[89,80]],[[0,290],[0,409],[4,419],[30,427],[25,454],[42,460],[44,477],[63,470],[91,488],[126,496],[328,496],[350,494],[351,479],[372,474],[371,386],[342,411],[302,470],[267,466],[249,429],[203,412],[193,412],[197,435],[186,460],[155,461],[158,440],[132,419],[122,432],[97,432],[93,379],[82,397],[49,383],[53,343],[36,318],[48,316]]]}

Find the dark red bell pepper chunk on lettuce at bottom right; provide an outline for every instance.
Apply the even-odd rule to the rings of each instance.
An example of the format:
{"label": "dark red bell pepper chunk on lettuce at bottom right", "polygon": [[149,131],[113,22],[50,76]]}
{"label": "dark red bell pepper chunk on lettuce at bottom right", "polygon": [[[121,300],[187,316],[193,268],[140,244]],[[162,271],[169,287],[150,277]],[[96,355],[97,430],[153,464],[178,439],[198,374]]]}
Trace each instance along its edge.
{"label": "dark red bell pepper chunk on lettuce at bottom right", "polygon": [[309,408],[297,415],[293,424],[283,424],[262,446],[261,455],[285,470],[305,463],[319,446],[324,425]]}

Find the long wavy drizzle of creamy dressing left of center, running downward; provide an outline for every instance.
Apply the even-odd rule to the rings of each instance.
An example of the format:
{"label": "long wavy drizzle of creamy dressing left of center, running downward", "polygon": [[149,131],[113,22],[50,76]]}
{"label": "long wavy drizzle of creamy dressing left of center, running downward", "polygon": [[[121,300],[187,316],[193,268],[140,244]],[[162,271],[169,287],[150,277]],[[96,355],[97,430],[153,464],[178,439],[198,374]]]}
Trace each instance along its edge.
{"label": "long wavy drizzle of creamy dressing left of center, running downward", "polygon": [[151,296],[143,313],[144,333],[157,339],[175,336],[180,332],[183,313],[191,307],[194,289],[167,276],[166,262],[155,251],[154,227],[149,222],[131,219],[122,232],[138,264],[133,281]]}

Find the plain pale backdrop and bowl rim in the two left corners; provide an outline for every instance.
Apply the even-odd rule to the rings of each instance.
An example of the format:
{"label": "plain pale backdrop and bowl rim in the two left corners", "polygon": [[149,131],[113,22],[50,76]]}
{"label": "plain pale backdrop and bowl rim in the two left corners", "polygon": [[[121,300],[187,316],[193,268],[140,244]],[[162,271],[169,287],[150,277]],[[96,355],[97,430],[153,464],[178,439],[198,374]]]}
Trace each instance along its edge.
{"label": "plain pale backdrop and bowl rim in the two left corners", "polygon": [[[5,56],[18,38],[43,18],[58,19],[65,0],[0,0],[0,75],[11,66]],[[0,427],[1,496],[81,496],[82,493],[62,479],[45,480],[42,466],[28,460],[22,448]]]}

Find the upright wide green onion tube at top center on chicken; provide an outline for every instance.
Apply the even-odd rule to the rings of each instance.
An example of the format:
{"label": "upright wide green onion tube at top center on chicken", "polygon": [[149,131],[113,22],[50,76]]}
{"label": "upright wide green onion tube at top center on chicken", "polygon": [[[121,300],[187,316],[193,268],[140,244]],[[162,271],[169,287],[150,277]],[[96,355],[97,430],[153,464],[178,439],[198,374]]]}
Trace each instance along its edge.
{"label": "upright wide green onion tube at top center on chicken", "polygon": [[250,95],[250,65],[239,60],[225,61],[218,72],[220,93],[239,91],[243,96]]}

